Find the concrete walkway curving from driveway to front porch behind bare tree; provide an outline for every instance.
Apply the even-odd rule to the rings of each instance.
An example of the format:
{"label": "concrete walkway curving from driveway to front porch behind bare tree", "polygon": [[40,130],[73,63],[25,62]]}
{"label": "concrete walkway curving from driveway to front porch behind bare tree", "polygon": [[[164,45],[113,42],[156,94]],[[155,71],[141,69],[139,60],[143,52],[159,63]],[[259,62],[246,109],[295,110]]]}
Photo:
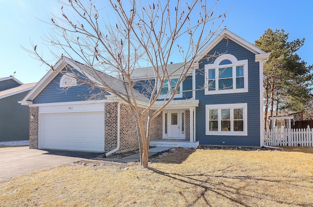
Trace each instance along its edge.
{"label": "concrete walkway curving from driveway to front porch behind bare tree", "polygon": [[[157,146],[155,148],[149,149],[149,157],[154,155],[158,152],[162,152],[172,148],[172,146]],[[136,153],[134,155],[130,155],[128,157],[124,157],[122,159],[114,159],[114,158],[93,158],[93,160],[103,160],[108,162],[115,162],[115,163],[130,163],[130,162],[139,162],[140,161],[140,153]]]}

